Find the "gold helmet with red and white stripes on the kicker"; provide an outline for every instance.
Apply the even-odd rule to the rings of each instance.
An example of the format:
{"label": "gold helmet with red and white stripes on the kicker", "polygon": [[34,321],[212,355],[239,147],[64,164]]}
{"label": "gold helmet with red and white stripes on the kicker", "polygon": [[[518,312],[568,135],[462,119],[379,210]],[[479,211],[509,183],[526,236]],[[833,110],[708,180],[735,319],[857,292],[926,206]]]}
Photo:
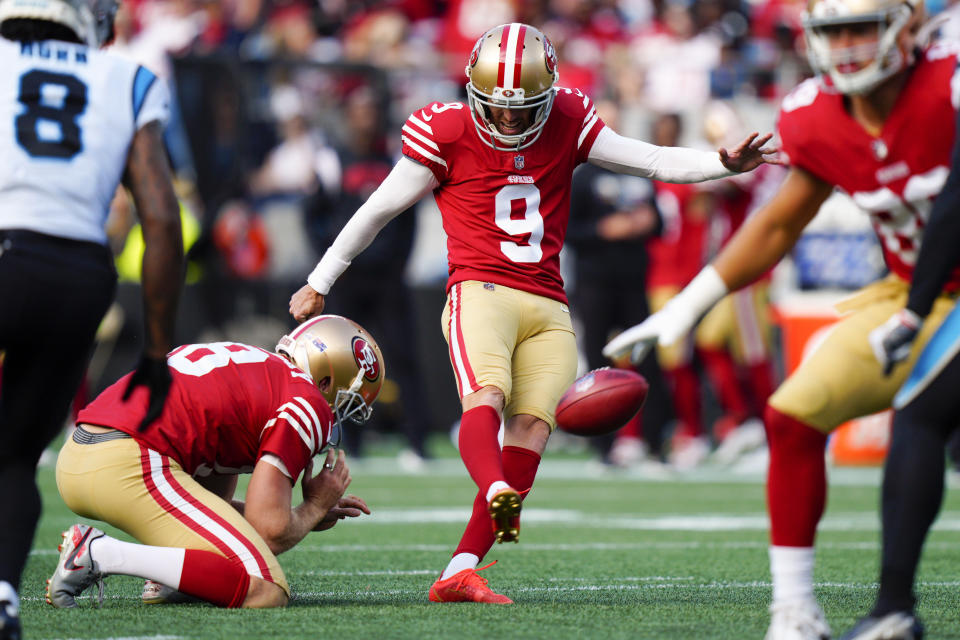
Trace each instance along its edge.
{"label": "gold helmet with red and white stripes on the kicker", "polygon": [[[533,144],[553,107],[557,53],[543,33],[519,22],[502,24],[480,36],[465,69],[467,103],[480,139],[494,149],[513,151]],[[533,123],[519,135],[505,135],[490,121],[490,107],[536,109]]]}

